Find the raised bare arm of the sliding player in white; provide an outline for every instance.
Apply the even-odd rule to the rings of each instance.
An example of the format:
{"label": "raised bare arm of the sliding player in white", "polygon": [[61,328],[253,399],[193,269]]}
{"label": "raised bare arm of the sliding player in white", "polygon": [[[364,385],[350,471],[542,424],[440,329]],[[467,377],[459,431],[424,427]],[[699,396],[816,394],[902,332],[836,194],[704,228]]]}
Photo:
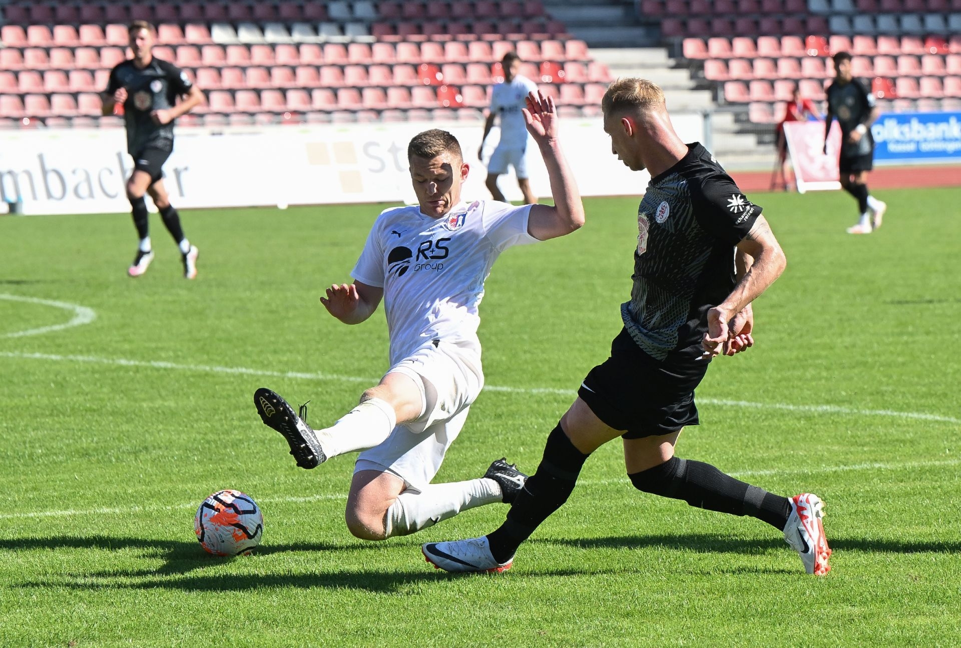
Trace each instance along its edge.
{"label": "raised bare arm of the sliding player in white", "polygon": [[528,233],[546,241],[580,228],[584,224],[584,205],[580,202],[577,182],[557,140],[554,98],[546,97],[540,91],[531,92],[528,95],[528,107],[524,109],[524,120],[544,157],[547,175],[551,180],[551,195],[554,197],[553,207],[547,204],[530,207]]}

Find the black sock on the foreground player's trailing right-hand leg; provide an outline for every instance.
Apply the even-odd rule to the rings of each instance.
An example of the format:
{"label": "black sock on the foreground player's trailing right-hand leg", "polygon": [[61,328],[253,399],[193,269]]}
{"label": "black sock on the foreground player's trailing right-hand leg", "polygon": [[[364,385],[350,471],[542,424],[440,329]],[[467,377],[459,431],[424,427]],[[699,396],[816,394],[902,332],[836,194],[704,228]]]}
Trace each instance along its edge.
{"label": "black sock on the foreground player's trailing right-hand leg", "polygon": [[660,466],[628,477],[638,491],[683,499],[708,511],[756,517],[778,531],[787,524],[787,497],[746,484],[699,461],[672,457]]}

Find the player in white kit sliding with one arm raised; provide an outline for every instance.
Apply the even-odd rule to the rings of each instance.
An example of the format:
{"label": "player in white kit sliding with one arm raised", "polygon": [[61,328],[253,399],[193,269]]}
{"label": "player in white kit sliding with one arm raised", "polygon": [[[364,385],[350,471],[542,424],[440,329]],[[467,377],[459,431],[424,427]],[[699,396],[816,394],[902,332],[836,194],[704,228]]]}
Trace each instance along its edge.
{"label": "player in white kit sliding with one arm raised", "polygon": [[554,101],[531,93],[524,117],[547,165],[554,204],[516,207],[461,201],[469,166],[449,132],[421,132],[407,159],[419,205],[386,209],[352,276],[321,298],[345,324],[371,316],[381,299],[390,369],[333,426],[312,430],[268,389],[254,394],[261,420],[280,432],[301,468],[362,450],[347,500],[347,527],[364,540],[404,536],[460,511],[510,502],[527,475],[505,460],[480,479],[431,484],[483,387],[478,306],[501,252],[563,236],[583,225],[583,206],[557,142]]}

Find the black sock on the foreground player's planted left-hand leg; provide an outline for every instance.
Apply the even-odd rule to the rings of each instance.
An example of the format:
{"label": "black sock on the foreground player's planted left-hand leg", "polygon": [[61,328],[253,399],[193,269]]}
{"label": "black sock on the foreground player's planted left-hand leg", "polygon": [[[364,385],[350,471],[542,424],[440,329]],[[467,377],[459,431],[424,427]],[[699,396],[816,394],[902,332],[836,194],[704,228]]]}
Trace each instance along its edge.
{"label": "black sock on the foreground player's planted left-hand leg", "polygon": [[517,495],[505,523],[487,535],[495,561],[504,563],[509,560],[537,525],[567,501],[587,457],[571,443],[558,424],[547,438],[540,466]]}

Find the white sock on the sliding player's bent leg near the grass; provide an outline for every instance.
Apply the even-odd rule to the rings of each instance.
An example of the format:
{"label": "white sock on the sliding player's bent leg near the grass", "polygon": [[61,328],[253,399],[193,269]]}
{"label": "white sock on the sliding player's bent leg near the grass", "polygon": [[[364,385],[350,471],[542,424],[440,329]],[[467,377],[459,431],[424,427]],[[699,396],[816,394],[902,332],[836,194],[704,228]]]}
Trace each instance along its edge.
{"label": "white sock on the sliding player's bent leg near the grass", "polygon": [[485,477],[451,484],[428,484],[422,492],[408,489],[387,509],[384,531],[387,538],[407,536],[461,511],[503,501],[503,497],[500,485]]}

